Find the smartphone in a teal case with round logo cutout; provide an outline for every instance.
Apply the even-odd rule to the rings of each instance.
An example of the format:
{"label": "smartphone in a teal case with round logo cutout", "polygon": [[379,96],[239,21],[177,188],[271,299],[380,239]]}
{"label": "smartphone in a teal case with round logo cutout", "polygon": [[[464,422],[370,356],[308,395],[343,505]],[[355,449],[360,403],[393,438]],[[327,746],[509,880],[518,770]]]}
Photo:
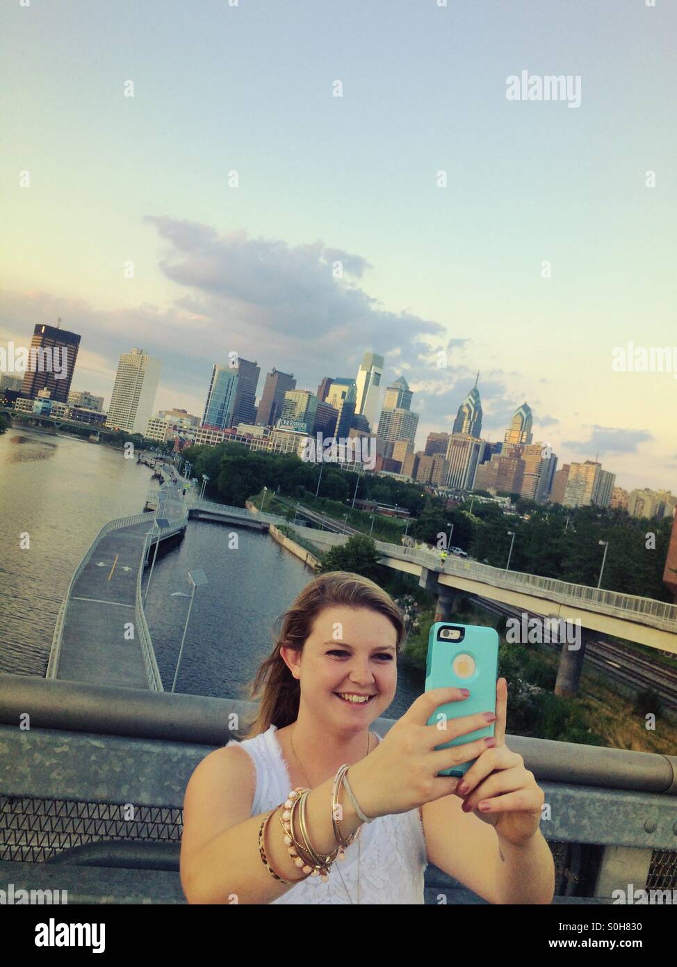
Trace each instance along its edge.
{"label": "smartphone in a teal case with round logo cutout", "polygon": [[[425,690],[457,688],[468,689],[470,694],[463,701],[439,705],[428,724],[440,724],[439,734],[443,736],[441,723],[447,719],[463,718],[477,712],[495,712],[497,671],[498,634],[493,628],[438,621],[428,636]],[[494,735],[494,724],[491,722],[484,728],[442,742],[436,749],[489,738]],[[442,769],[437,776],[465,776],[473,762],[475,759]]]}

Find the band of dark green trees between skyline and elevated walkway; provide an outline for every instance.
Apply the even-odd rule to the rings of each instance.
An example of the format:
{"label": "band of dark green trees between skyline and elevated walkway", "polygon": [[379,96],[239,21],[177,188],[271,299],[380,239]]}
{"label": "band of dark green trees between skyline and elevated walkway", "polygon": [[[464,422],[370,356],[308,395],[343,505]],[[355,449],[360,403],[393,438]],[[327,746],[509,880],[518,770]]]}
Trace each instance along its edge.
{"label": "band of dark green trees between skyline and elevated walkway", "polygon": [[[512,542],[508,531],[512,531],[512,571],[596,587],[604,553],[600,541],[608,542],[602,585],[606,590],[671,601],[663,584],[671,518],[648,520],[618,509],[540,505],[521,497],[514,497],[513,513],[504,513],[495,503],[482,503],[480,494],[468,494],[452,506],[427,493],[421,484],[403,484],[368,473],[358,480],[357,474],[331,464],[324,465],[316,498],[321,468],[296,454],[252,453],[240,444],[190,447],[183,454],[196,477],[209,476],[208,495],[214,500],[243,507],[247,499],[254,499],[259,506],[266,486],[265,510],[277,513],[284,508],[284,515],[290,502],[298,502],[328,514],[339,524],[348,514],[349,526],[369,534],[373,523],[372,537],[394,543],[401,542],[407,529],[416,541],[443,545],[453,526],[451,543],[495,568],[506,567]],[[400,518],[353,509],[355,485],[358,499],[408,509],[409,527]],[[278,498],[280,504],[276,505]]]}

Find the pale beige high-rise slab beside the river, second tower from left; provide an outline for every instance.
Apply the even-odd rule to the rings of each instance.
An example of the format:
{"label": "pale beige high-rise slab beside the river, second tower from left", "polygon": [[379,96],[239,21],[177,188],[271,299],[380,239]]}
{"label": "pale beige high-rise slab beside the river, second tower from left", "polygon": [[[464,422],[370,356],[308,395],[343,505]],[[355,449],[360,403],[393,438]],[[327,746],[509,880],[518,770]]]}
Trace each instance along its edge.
{"label": "pale beige high-rise slab beside the river, second tower from left", "polygon": [[108,407],[108,426],[117,426],[127,433],[146,432],[161,368],[160,361],[143,349],[131,349],[122,354]]}

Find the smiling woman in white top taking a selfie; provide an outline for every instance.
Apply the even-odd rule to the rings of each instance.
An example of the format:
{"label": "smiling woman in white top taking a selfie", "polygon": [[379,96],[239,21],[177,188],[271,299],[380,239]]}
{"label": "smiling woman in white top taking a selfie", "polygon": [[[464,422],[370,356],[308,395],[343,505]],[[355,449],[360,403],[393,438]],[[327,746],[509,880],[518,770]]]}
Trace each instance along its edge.
{"label": "smiling woman in white top taking a selfie", "polygon": [[[452,795],[458,779],[438,775],[474,758],[486,775],[494,769],[486,757],[496,749],[485,739],[436,748],[439,731],[427,723],[439,705],[462,701],[462,689],[420,695],[382,741],[370,732],[397,687],[405,626],[394,601],[368,578],[328,571],[280,621],[251,686],[259,707],[247,738],[206,756],[186,788],[188,901],[423,903],[432,862],[493,902],[514,902],[523,872],[524,901],[550,902],[552,858],[538,833],[543,793],[522,758],[505,747],[495,758],[504,772],[491,780],[492,794],[519,790],[523,810],[507,838],[491,815],[462,809],[461,794]],[[484,714],[455,718],[452,738],[484,725]],[[475,788],[482,767],[473,767],[468,800],[490,796],[484,784]]]}

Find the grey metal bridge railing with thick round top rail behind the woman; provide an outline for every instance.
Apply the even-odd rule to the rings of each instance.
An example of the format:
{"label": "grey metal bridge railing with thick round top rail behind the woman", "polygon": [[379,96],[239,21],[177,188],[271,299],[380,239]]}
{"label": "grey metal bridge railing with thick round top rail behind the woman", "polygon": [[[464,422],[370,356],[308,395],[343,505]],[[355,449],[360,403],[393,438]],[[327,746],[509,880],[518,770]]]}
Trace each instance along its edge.
{"label": "grey metal bridge railing with thick round top rail behind the woman", "polygon": [[[26,709],[31,729],[21,731],[15,721]],[[238,726],[253,711],[235,699],[0,675],[2,872],[13,862],[69,861],[73,847],[96,843],[103,865],[124,866],[105,857],[127,855],[129,868],[157,868],[151,846],[181,839],[188,778],[212,748],[242,737]],[[383,736],[393,723],[378,718],[372,728]],[[611,891],[629,882],[677,889],[677,757],[507,741],[546,793],[541,831],[555,861],[556,896],[610,902]],[[79,857],[71,862],[86,864],[86,851]],[[432,867],[426,886],[444,891],[443,878]],[[108,890],[103,875],[99,889]]]}

